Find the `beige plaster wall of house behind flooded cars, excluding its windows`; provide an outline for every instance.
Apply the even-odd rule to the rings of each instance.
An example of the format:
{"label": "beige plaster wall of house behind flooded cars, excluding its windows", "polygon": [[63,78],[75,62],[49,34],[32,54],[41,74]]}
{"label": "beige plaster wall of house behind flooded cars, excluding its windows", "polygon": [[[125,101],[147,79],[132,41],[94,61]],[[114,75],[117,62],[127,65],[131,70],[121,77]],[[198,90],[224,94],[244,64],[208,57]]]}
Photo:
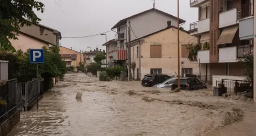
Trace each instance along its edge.
{"label": "beige plaster wall of house behind flooded cars, excluding its windows", "polygon": [[[188,33],[180,31],[180,54],[182,52],[181,45],[197,42],[197,38],[190,36]],[[150,45],[162,45],[162,57],[150,58]],[[139,58],[137,58],[137,45],[131,47],[131,60],[136,64],[132,75],[137,79],[137,69],[139,69]],[[134,50],[133,50],[134,47]],[[187,57],[181,57],[180,61],[184,61],[183,68],[192,68],[193,74],[199,74],[197,63],[190,63]],[[175,75],[177,73],[177,29],[170,28],[156,33],[147,38],[143,38],[141,43],[141,79],[145,74],[150,73],[150,69],[162,69],[162,74]]]}

